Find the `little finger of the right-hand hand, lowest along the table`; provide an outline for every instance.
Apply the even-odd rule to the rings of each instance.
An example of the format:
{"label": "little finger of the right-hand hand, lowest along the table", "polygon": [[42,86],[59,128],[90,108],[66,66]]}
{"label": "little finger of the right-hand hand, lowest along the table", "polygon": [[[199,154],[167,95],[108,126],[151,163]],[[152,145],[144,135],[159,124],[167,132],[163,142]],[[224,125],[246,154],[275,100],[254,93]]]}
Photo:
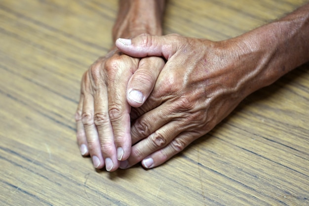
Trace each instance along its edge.
{"label": "little finger of the right-hand hand, lowest along the table", "polygon": [[200,134],[197,132],[183,132],[174,138],[166,147],[146,157],[142,161],[142,165],[147,169],[162,165],[173,156],[183,151],[198,137],[200,137]]}

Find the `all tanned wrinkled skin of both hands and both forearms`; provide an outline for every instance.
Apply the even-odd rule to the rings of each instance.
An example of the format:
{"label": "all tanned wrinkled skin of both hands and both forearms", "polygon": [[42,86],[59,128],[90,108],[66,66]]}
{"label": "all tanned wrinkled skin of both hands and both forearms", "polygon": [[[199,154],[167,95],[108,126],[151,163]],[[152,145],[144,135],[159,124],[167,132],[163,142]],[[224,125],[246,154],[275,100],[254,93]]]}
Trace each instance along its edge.
{"label": "all tanned wrinkled skin of both hands and both forearms", "polygon": [[[77,140],[97,168],[114,171],[119,161],[121,168],[140,161],[146,168],[164,163],[211,130],[245,96],[309,61],[309,4],[239,37],[213,42],[179,35],[136,37],[130,31],[140,28],[140,20],[146,20],[146,27],[154,25],[152,34],[160,28],[151,23],[160,18],[147,19],[151,15],[144,8],[162,7],[133,2],[137,5],[132,4],[128,18],[122,17],[137,19],[137,24],[123,30],[132,21],[120,16],[115,34],[125,35],[114,39],[135,37],[118,39],[116,46],[136,58],[111,51],[82,79]],[[166,60],[163,69],[160,57]],[[130,106],[139,108],[129,115]]]}

